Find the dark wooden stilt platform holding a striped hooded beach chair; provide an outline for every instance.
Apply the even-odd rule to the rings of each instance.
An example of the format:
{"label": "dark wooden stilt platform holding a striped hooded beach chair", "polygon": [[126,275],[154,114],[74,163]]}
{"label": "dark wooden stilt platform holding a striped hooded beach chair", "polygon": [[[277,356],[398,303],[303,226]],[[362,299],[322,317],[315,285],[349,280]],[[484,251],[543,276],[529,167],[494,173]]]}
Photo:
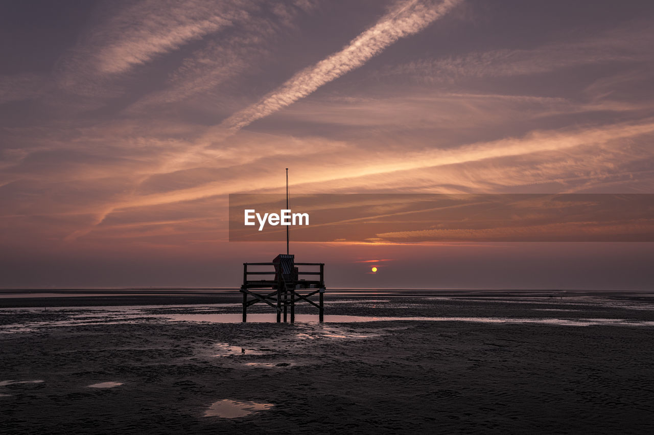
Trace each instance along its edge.
{"label": "dark wooden stilt platform holding a striped hooded beach chair", "polygon": [[[274,266],[273,271],[249,271],[248,266]],[[320,266],[320,271],[300,271],[297,266]],[[249,275],[274,275],[269,279],[248,279]],[[300,279],[300,275],[314,275],[318,279]],[[269,288],[272,291],[265,294],[255,293],[251,289]],[[308,291],[308,292],[307,292]],[[243,263],[243,322],[247,322],[247,307],[257,302],[264,302],[277,310],[277,322],[287,319],[290,307],[290,321],[295,322],[296,302],[308,302],[318,309],[318,321],[324,317],[323,294],[324,263],[296,263],[293,254],[279,254],[271,263]],[[318,294],[318,304],[309,299]],[[252,296],[253,299],[249,299]],[[290,297],[289,297],[290,296]]]}

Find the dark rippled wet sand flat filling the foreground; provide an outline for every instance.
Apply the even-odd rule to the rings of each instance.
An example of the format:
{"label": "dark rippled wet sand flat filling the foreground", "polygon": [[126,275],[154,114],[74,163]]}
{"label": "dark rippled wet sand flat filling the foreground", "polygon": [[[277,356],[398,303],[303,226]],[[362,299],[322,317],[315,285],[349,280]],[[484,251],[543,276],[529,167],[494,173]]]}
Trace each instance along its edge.
{"label": "dark rippled wet sand flat filling the foreground", "polygon": [[[101,324],[44,326],[71,313],[0,309],[0,326],[39,324],[0,334],[0,381],[43,380],[0,386],[0,433],[654,431],[654,307],[646,300],[347,300],[328,300],[328,314],[517,322],[292,325],[144,315],[112,323],[88,309]],[[226,310],[237,308],[216,313]],[[102,382],[123,385],[88,387]],[[204,416],[225,399],[273,406],[234,419]]]}

